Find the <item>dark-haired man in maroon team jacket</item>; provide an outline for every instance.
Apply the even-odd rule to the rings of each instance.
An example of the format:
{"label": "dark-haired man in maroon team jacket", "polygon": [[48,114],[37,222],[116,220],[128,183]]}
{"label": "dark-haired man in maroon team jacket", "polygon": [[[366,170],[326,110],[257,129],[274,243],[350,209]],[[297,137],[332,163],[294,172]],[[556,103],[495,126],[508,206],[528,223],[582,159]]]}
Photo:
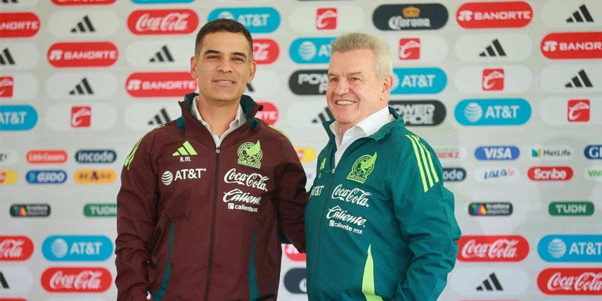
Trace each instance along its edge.
{"label": "dark-haired man in maroon team jacket", "polygon": [[281,231],[305,252],[305,172],[288,138],[254,116],[243,25],[203,26],[199,84],[182,117],[144,135],[117,195],[117,300],[276,300]]}

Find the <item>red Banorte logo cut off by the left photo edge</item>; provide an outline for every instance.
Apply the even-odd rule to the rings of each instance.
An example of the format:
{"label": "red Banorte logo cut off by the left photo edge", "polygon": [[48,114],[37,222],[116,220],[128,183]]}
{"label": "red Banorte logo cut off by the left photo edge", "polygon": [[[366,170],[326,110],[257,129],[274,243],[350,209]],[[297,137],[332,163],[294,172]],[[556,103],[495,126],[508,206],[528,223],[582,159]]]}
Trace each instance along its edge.
{"label": "red Banorte logo cut off by the left photo edge", "polygon": [[40,30],[34,13],[0,13],[0,37],[32,37]]}

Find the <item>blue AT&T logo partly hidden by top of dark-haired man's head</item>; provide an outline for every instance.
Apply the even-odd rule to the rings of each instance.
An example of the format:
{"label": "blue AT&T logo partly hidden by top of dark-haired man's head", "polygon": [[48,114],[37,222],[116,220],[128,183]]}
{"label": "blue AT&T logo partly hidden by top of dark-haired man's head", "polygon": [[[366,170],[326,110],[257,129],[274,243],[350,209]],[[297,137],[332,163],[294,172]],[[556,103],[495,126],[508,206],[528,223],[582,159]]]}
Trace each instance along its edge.
{"label": "blue AT&T logo partly hidden by top of dark-haired man's head", "polygon": [[207,21],[232,19],[244,25],[250,33],[272,33],[280,25],[280,14],[272,7],[217,8]]}

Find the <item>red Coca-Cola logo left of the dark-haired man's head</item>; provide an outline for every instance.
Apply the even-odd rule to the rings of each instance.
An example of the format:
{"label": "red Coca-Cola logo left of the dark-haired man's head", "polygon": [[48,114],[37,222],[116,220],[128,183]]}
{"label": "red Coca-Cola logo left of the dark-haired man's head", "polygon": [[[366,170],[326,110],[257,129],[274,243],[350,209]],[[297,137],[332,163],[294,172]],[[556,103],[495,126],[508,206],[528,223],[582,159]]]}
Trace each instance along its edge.
{"label": "red Coca-Cola logo left of the dark-haired man's head", "polygon": [[137,10],[128,17],[134,34],[189,34],[197,26],[199,17],[193,10]]}

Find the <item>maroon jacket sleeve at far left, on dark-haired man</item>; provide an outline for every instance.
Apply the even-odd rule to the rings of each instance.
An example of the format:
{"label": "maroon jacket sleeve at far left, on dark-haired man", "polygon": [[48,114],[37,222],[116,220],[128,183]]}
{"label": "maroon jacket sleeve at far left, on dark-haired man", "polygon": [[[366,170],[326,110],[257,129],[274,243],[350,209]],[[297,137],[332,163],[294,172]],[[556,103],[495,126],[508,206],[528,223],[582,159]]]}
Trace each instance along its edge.
{"label": "maroon jacket sleeve at far left, on dark-haired man", "polygon": [[125,160],[117,194],[117,301],[144,301],[150,282],[152,233],[157,222],[157,175],[149,156],[150,137],[138,140]]}

